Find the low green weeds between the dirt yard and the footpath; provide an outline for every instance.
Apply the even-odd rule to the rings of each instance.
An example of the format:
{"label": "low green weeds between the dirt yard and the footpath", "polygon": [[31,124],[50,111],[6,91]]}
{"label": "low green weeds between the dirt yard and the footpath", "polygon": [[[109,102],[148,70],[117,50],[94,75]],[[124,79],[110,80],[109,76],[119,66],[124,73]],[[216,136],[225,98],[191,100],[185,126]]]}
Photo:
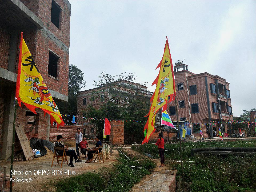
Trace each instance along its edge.
{"label": "low green weeds between the dirt yard and the footpath", "polygon": [[[85,173],[74,177],[64,178],[55,183],[57,191],[63,192],[128,192],[145,175],[150,174],[156,164],[150,159],[132,158],[129,160],[120,153],[118,163],[112,167],[103,167],[99,173]],[[141,168],[131,168],[136,166]]]}

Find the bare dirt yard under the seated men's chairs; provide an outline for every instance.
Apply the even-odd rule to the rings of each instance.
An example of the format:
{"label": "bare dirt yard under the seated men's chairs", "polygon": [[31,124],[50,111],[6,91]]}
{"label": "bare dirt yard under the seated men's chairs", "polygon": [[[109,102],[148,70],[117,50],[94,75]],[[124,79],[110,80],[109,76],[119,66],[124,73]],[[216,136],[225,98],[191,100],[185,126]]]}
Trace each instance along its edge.
{"label": "bare dirt yard under the seated men's chairs", "polygon": [[[71,149],[71,148],[70,148]],[[42,192],[42,191],[54,191],[54,189],[49,188],[49,183],[50,182],[55,182],[55,180],[58,180],[60,178],[65,178],[65,177],[70,177],[72,176],[70,173],[74,173],[75,175],[77,174],[82,174],[85,172],[94,172],[97,171],[100,167],[108,167],[111,166],[113,162],[116,161],[116,155],[117,151],[113,150],[113,153],[110,157],[110,159],[105,160],[105,162],[99,164],[99,162],[94,162],[94,163],[86,163],[86,159],[82,158],[81,163],[74,163],[75,167],[68,167],[67,165],[63,165],[62,168],[59,166],[53,166],[51,168],[51,162],[53,155],[45,155],[40,158],[33,159],[32,161],[15,161],[13,163],[13,169],[15,171],[21,171],[23,170],[23,174],[17,175],[15,174],[14,176],[16,178],[32,178],[32,181],[30,182],[15,182],[13,191],[14,192]],[[57,163],[57,160],[55,159],[55,163]],[[10,162],[7,161],[0,161],[0,167],[6,166],[7,173],[10,173]],[[49,170],[50,174],[39,174],[39,175],[34,175],[34,170],[35,173],[37,173],[37,170]],[[32,175],[25,175],[25,171],[31,171]],[[56,172],[62,171],[62,175],[58,174],[56,175]],[[66,171],[66,174],[65,174]],[[52,174],[52,173],[55,173]]]}

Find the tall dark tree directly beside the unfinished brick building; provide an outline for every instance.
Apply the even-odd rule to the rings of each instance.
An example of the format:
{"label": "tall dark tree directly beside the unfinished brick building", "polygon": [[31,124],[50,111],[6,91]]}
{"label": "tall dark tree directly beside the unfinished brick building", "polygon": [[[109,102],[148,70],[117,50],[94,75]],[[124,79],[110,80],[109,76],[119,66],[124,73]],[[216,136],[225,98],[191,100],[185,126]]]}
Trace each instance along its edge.
{"label": "tall dark tree directly beside the unfinished brick building", "polygon": [[77,114],[77,93],[86,86],[83,76],[84,74],[81,69],[78,69],[75,65],[69,65],[68,102],[58,104],[58,108],[62,114]]}

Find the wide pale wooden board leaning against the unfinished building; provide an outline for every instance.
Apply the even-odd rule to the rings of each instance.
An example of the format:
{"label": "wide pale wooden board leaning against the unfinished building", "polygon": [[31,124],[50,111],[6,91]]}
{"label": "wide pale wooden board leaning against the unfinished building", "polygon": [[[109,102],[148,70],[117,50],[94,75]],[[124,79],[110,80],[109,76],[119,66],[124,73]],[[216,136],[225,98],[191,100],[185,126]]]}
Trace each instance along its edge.
{"label": "wide pale wooden board leaning against the unfinished building", "polygon": [[21,147],[23,150],[23,153],[25,155],[26,160],[32,160],[33,159],[33,153],[31,151],[31,147],[29,145],[27,136],[24,132],[24,130],[21,127],[15,127],[16,133],[18,135],[19,141],[21,142]]}

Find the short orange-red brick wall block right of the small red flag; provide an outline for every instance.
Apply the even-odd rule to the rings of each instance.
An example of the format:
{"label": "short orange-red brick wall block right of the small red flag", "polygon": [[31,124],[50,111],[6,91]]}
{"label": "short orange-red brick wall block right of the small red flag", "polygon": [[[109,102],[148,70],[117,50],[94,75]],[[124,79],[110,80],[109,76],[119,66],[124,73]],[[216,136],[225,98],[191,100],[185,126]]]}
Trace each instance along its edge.
{"label": "short orange-red brick wall block right of the small red flag", "polygon": [[123,121],[110,121],[109,141],[112,145],[123,145]]}

